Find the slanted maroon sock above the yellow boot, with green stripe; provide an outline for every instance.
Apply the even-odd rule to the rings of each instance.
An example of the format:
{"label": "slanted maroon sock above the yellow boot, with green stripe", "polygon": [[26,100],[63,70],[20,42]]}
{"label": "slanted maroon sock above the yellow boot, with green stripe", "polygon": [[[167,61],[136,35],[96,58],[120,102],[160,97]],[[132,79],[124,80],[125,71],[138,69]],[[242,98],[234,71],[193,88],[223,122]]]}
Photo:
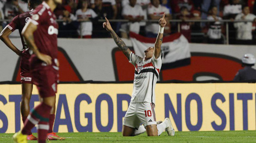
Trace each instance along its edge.
{"label": "slanted maroon sock above the yellow boot, with green stripe", "polygon": [[39,121],[48,123],[51,109],[52,109],[51,106],[43,102],[40,103],[34,109],[32,109],[24,123],[23,129],[21,130],[22,134],[28,135],[31,129],[36,124],[38,124]]}

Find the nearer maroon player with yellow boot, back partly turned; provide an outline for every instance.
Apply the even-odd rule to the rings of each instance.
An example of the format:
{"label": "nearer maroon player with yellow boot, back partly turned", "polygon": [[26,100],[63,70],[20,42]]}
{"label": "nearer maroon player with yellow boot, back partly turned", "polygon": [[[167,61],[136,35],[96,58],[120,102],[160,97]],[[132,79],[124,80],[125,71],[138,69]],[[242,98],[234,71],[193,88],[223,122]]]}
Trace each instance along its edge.
{"label": "nearer maroon player with yellow boot, back partly turned", "polygon": [[[55,105],[59,80],[59,62],[57,60],[58,23],[53,13],[62,0],[45,0],[33,13],[32,19],[23,28],[22,34],[28,47],[33,51],[29,59],[33,84],[38,88],[41,103],[31,110],[24,127],[13,135],[17,143],[26,143],[26,134],[37,125],[38,142],[45,143],[49,130],[49,116]],[[51,135],[53,138],[64,138]]]}

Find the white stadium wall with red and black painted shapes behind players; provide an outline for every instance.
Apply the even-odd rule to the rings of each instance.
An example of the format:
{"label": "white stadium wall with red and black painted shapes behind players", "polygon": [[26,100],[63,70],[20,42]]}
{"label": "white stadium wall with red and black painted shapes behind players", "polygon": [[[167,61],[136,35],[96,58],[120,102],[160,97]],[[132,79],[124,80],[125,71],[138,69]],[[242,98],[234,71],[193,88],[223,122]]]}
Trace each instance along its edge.
{"label": "white stadium wall with red and black painted shapes behind players", "polygon": [[[22,48],[19,38],[11,40]],[[131,41],[124,41],[132,49]],[[58,45],[60,81],[133,81],[134,67],[117,50],[113,39],[60,38]],[[0,47],[0,81],[19,81],[18,56],[3,42],[0,42]],[[190,44],[190,51],[190,65],[161,70],[159,80],[192,81],[198,76],[202,79],[213,76],[229,81],[242,68],[239,59],[243,54],[256,55],[255,46],[247,45]]]}

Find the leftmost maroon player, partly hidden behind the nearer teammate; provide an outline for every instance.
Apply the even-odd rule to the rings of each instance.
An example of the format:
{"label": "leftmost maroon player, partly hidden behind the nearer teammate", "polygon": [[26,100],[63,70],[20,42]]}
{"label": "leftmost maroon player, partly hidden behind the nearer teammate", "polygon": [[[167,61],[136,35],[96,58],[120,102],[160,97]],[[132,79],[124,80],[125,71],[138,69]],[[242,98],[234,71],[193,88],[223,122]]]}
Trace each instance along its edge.
{"label": "leftmost maroon player, partly hidden behind the nearer teammate", "polygon": [[[20,15],[17,15],[16,17],[13,18],[11,23],[9,23],[1,32],[0,38],[1,40],[11,49],[13,50],[17,55],[21,56],[21,61],[20,61],[20,81],[21,81],[21,86],[22,86],[22,98],[21,98],[21,107],[20,107],[20,112],[22,116],[22,121],[23,124],[25,120],[27,119],[27,116],[29,114],[29,101],[31,98],[32,90],[33,90],[33,83],[32,83],[32,75],[29,72],[29,50],[27,45],[24,42],[23,36],[21,35],[21,31],[25,24],[28,22],[30,17],[32,16],[32,13],[35,12],[35,8],[41,4],[41,0],[28,0],[28,7],[29,10],[28,12],[24,12]],[[9,35],[14,31],[18,29],[21,37],[21,42],[23,45],[23,50],[18,50],[18,48],[13,45],[11,40],[9,39]],[[27,140],[37,140],[35,136],[32,135],[32,132],[29,131],[27,133]]]}

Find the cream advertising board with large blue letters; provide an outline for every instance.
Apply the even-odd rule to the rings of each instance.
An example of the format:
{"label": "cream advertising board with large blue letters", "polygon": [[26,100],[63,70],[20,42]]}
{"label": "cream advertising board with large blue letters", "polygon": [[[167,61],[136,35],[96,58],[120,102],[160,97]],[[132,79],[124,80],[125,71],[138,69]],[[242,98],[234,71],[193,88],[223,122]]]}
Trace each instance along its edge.
{"label": "cream advertising board with large blue letters", "polygon": [[[132,88],[126,83],[59,84],[54,132],[121,131]],[[1,133],[23,126],[20,94],[20,84],[0,85]],[[37,94],[33,90],[31,108],[39,103]],[[156,119],[170,117],[176,131],[255,130],[255,98],[255,83],[158,83]]]}

